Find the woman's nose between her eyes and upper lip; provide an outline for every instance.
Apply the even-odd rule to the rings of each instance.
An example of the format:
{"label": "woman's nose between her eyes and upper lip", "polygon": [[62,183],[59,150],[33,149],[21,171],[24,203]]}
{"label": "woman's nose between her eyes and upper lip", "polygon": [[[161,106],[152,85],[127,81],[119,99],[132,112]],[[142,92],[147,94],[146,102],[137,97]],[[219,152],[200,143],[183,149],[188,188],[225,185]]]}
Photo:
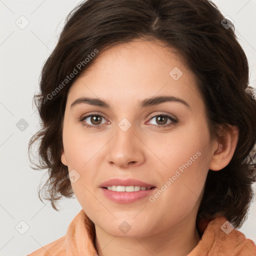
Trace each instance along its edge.
{"label": "woman's nose between her eyes and upper lip", "polygon": [[109,141],[106,160],[118,168],[140,165],[145,161],[143,143],[132,126],[123,131],[117,126],[116,134]]}

